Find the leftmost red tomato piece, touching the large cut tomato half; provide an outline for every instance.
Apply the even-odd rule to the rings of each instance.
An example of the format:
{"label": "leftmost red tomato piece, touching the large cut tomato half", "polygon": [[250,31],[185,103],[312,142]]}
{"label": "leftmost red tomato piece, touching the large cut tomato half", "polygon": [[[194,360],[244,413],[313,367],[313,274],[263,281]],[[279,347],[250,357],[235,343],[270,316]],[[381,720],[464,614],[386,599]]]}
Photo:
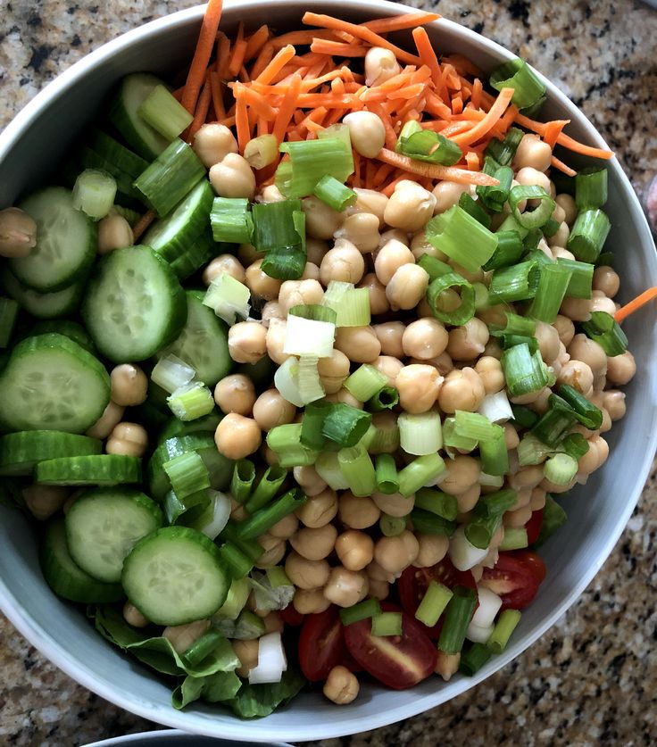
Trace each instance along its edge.
{"label": "leftmost red tomato piece, touching the large cut tomato half", "polygon": [[299,666],[306,679],[320,682],[346,659],[345,636],[337,607],[306,615],[299,634]]}

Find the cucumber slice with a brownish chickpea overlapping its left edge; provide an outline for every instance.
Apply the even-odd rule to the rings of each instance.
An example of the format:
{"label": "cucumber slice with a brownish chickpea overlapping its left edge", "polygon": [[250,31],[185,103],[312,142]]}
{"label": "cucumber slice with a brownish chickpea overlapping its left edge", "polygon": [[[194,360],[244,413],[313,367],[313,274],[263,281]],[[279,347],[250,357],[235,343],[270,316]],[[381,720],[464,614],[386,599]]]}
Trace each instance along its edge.
{"label": "cucumber slice with a brownish chickpea overlapping its left edge", "polygon": [[9,261],[21,283],[37,291],[61,290],[81,278],[98,247],[94,221],[73,207],[64,187],[47,187],[19,204],[37,223],[37,245]]}

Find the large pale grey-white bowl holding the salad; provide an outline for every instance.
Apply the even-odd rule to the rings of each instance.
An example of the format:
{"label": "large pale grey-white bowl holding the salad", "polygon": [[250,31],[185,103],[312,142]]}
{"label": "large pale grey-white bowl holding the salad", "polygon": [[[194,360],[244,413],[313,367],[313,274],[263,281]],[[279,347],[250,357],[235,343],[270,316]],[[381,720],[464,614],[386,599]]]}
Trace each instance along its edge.
{"label": "large pale grey-white bowl holding the salad", "polygon": [[[230,30],[240,20],[247,28],[262,21],[281,28],[297,26],[306,7],[304,0],[236,0],[226,4],[222,28]],[[190,59],[203,10],[199,6],[177,12],[130,31],[87,55],[37,95],[0,136],[0,206],[12,204],[24,190],[43,183],[44,174],[122,75],[182,68]],[[324,0],[313,3],[312,10],[353,21],[409,11],[372,0]],[[465,54],[485,71],[512,57],[503,47],[451,21],[438,21],[428,31],[439,52]],[[584,115],[548,80],[544,82],[548,103],[543,116],[570,119],[573,137],[603,147],[602,137]],[[627,258],[620,268],[620,298],[628,300],[646,286],[657,285],[657,258],[628,178],[615,159],[608,166],[606,211],[612,228],[607,246],[620,260]],[[269,718],[251,722],[204,705],[173,710],[169,687],[105,643],[78,609],[50,592],[38,568],[32,527],[18,512],[1,507],[0,605],[31,643],[81,685],[139,716],[199,735],[254,742],[320,739],[384,726],[428,710],[490,676],[543,635],[575,602],[611,552],[644,486],[657,442],[656,322],[657,309],[652,306],[626,323],[637,373],[626,388],[628,414],[610,434],[610,459],[568,499],[569,523],[543,551],[548,577],[536,602],[524,612],[510,646],[472,678],[456,676],[445,684],[431,677],[403,692],[363,685],[358,699],[340,708],[319,694],[304,694]]]}

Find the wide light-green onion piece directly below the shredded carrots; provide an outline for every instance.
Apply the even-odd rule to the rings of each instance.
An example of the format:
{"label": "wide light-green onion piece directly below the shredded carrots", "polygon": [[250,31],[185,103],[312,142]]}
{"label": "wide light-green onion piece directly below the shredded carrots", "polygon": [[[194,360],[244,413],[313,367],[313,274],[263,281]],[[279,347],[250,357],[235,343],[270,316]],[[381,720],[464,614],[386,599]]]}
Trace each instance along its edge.
{"label": "wide light-green onion piece directly below the shredded carrots", "polygon": [[275,177],[276,186],[286,197],[312,195],[327,175],[344,183],[353,174],[352,149],[341,137],[281,143],[279,150],[289,154],[289,161],[279,164]]}

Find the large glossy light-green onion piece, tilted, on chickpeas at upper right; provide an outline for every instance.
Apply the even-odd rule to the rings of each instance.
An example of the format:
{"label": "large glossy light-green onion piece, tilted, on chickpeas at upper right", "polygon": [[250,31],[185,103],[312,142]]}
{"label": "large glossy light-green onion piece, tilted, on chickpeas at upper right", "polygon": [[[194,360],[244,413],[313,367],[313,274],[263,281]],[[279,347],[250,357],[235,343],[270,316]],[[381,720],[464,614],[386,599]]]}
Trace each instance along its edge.
{"label": "large glossy light-green onion piece, tilted, on chickpeas at upper right", "polygon": [[428,221],[428,243],[465,270],[476,272],[495,253],[497,237],[458,205]]}

